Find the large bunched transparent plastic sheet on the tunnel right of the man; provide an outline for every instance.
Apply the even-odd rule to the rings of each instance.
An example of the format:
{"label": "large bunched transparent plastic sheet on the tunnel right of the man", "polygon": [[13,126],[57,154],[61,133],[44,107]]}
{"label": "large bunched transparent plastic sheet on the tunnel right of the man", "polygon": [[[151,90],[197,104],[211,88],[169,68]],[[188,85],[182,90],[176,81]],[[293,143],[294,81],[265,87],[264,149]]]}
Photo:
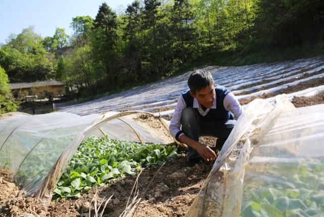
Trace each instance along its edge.
{"label": "large bunched transparent plastic sheet on the tunnel right of the man", "polygon": [[186,216],[324,216],[324,104],[256,99]]}

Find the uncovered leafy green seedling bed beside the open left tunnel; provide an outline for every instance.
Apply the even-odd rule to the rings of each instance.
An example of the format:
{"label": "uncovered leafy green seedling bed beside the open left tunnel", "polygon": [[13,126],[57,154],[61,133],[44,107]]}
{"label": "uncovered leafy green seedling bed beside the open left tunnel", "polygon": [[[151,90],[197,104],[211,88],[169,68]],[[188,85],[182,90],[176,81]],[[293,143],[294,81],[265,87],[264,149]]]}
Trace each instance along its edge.
{"label": "uncovered leafy green seedling bed beside the open left tunnel", "polygon": [[83,142],[66,167],[53,198],[77,198],[92,186],[101,186],[142,166],[162,164],[177,155],[176,146],[137,144],[90,137]]}

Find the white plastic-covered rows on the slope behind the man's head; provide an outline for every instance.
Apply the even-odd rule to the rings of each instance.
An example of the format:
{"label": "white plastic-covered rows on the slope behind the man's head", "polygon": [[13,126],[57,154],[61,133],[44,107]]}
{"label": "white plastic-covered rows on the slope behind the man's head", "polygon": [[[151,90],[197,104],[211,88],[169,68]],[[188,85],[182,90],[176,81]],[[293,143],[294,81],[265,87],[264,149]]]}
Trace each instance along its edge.
{"label": "white plastic-covered rows on the slope behind the man's head", "polygon": [[[205,69],[211,72],[217,84],[224,85],[232,90],[238,99],[249,99],[264,93],[276,93],[287,88],[288,85],[293,86],[310,79],[324,77],[324,56],[238,67],[209,66]],[[145,110],[153,113],[159,108],[165,110],[169,107],[171,110],[179,94],[188,89],[187,81],[190,74],[191,72],[184,73],[91,102],[66,107],[64,107],[64,104],[57,106],[61,111],[79,115],[108,110]],[[259,84],[260,80],[266,82]],[[284,84],[280,82],[284,82]],[[251,86],[247,87],[246,85]],[[322,88],[321,91],[323,90]],[[238,96],[238,94],[244,94],[243,92],[246,91],[252,93]],[[165,112],[161,112],[161,115],[162,113]]]}

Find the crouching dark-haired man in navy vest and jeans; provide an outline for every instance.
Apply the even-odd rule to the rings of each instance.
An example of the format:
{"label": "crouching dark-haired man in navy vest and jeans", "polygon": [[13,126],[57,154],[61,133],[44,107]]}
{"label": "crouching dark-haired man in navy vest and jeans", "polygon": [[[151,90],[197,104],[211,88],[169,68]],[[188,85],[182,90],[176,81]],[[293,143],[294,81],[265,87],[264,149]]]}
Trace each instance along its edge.
{"label": "crouching dark-haired man in navy vest and jeans", "polygon": [[188,86],[190,90],[179,96],[169,129],[171,136],[188,145],[188,165],[193,166],[201,160],[210,162],[216,158],[210,147],[198,142],[199,137],[217,137],[216,149],[220,150],[242,107],[228,89],[215,85],[209,71],[193,72]]}

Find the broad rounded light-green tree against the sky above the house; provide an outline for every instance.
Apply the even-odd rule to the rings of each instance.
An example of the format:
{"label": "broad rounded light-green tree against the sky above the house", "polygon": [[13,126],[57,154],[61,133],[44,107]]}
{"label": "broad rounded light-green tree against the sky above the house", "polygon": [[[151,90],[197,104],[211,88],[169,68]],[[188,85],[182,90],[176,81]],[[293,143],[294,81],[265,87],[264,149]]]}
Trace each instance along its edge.
{"label": "broad rounded light-green tree against the sky above the house", "polygon": [[0,49],[0,64],[11,81],[36,81],[54,77],[56,61],[33,27],[23,29]]}

